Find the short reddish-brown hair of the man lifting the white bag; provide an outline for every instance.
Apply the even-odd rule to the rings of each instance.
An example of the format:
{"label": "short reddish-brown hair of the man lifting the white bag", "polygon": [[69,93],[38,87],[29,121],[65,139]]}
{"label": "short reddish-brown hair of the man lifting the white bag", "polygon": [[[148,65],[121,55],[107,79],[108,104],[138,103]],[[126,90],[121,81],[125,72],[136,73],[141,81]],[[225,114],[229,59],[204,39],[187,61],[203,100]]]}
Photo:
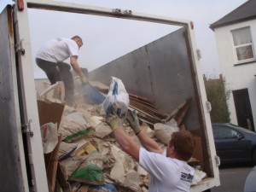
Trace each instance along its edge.
{"label": "short reddish-brown hair of the man lifting the white bag", "polygon": [[170,147],[174,147],[178,160],[188,161],[195,151],[195,137],[189,131],[172,133]]}

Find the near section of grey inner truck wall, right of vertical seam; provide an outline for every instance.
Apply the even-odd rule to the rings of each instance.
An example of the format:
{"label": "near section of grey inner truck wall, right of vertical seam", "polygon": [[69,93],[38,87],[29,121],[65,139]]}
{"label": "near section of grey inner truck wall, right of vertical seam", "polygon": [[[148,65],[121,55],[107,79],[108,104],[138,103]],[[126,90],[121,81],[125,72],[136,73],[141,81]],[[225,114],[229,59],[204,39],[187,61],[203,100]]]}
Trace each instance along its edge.
{"label": "near section of grey inner truck wall, right of vertical seam", "polygon": [[177,105],[188,96],[191,106],[184,123],[187,129],[200,127],[198,100],[195,94],[195,76],[191,73],[189,44],[186,42],[186,28],[147,45],[148,63],[152,78],[155,105],[164,113],[172,113]]}

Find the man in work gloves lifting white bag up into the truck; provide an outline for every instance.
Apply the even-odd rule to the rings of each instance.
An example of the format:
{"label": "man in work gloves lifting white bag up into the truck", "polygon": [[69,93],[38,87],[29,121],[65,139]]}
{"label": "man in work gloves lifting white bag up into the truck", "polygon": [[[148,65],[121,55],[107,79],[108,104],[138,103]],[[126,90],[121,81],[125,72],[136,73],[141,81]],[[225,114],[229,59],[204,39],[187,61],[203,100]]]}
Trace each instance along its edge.
{"label": "man in work gloves lifting white bag up into the truck", "polygon": [[141,131],[136,111],[129,111],[127,121],[136,133],[140,147],[122,128],[123,121],[111,113],[108,124],[123,150],[137,160],[150,174],[149,192],[189,191],[194,177],[194,168],[187,164],[195,150],[195,138],[189,131],[177,131],[166,151]]}

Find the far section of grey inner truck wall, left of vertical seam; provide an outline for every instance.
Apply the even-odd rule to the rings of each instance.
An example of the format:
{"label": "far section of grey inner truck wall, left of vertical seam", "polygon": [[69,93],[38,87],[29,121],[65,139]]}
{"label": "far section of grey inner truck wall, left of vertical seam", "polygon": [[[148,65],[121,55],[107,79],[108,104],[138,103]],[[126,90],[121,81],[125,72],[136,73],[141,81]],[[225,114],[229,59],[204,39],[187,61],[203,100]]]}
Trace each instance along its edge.
{"label": "far section of grey inner truck wall, left of vertical seam", "polygon": [[111,76],[122,79],[129,93],[154,100],[146,47],[132,51],[90,72],[90,79],[104,84],[110,84]]}

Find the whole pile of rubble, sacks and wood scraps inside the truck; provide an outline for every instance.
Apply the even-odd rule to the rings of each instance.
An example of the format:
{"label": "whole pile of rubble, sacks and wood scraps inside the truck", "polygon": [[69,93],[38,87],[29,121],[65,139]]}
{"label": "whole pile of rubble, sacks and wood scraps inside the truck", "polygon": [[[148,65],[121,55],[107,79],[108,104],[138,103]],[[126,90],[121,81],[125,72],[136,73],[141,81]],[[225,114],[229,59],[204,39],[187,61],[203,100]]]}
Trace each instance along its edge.
{"label": "whole pile of rubble, sacks and wood scraps inside the truck", "polygon": [[[155,108],[148,110],[148,108],[153,108],[153,103],[150,104],[151,106],[147,105],[147,108],[142,108],[142,104],[137,104],[136,96],[132,96],[132,98],[130,109],[138,110],[139,118],[143,120],[142,130],[162,148],[166,148],[172,132],[179,129],[177,120],[174,119],[177,117],[177,113],[172,113],[169,116],[163,115]],[[50,102],[50,98],[47,100]],[[55,170],[51,172],[51,174],[55,173],[55,176],[48,174],[52,180],[49,182],[49,188],[52,191],[58,191],[56,188],[59,187],[59,191],[70,192],[148,191],[150,177],[148,172],[119,148],[119,144],[112,137],[111,128],[106,123],[106,113],[102,105],[85,103],[83,96],[79,93],[76,93],[76,101],[76,108],[65,106],[61,121],[58,127],[55,126],[59,135],[59,143],[56,144],[50,158],[55,160],[57,166],[54,166]],[[141,101],[140,99],[140,103],[142,103]],[[145,101],[143,99],[144,104]],[[187,106],[187,103],[183,103],[182,108]],[[152,111],[154,114],[149,114],[148,111]],[[177,111],[180,112],[180,110]],[[145,113],[147,115],[144,115]],[[155,118],[156,113],[162,115],[165,121],[169,120],[166,125],[161,123],[163,119],[159,119],[159,115]],[[148,117],[150,117],[149,120],[147,120]],[[154,121],[155,119],[159,120]],[[179,118],[177,119],[178,122],[181,121]],[[124,129],[140,144],[126,122],[124,122]],[[48,155],[45,154],[45,157]],[[47,162],[46,160],[46,165]],[[48,166],[46,168],[49,170]]]}

